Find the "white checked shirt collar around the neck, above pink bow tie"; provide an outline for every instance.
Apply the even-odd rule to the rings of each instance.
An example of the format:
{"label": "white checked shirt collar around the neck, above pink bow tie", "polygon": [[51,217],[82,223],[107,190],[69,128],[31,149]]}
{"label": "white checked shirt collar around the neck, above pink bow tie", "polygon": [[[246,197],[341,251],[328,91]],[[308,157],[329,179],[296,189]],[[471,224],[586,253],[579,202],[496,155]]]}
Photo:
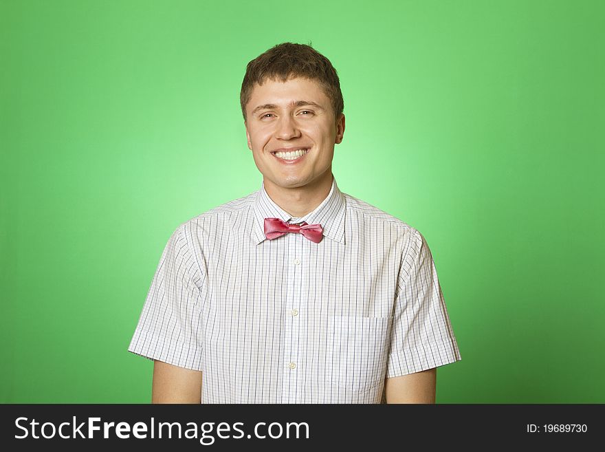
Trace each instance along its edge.
{"label": "white checked shirt collar around the neck, above pink bow tie", "polygon": [[[296,217],[296,223],[307,222],[308,224],[321,224],[323,235],[333,241],[338,241],[344,245],[344,213],[346,202],[344,195],[338,189],[336,177],[332,176],[332,186],[325,200],[313,211],[303,217]],[[284,222],[292,219],[292,215],[283,210],[269,197],[265,190],[265,183],[261,184],[261,189],[256,192],[256,198],[252,205],[254,211],[254,230],[252,239],[254,244],[258,245],[265,237],[265,218],[280,218]]]}

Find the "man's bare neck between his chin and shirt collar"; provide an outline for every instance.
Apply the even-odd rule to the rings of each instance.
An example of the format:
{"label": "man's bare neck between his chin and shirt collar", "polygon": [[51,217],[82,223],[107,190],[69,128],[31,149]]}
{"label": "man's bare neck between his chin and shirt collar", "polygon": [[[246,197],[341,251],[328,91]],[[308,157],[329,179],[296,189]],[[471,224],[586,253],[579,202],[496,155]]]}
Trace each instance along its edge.
{"label": "man's bare neck between his chin and shirt collar", "polygon": [[263,180],[267,195],[292,217],[303,217],[314,211],[326,199],[332,188],[332,171],[315,184],[293,188],[277,186],[269,180]]}

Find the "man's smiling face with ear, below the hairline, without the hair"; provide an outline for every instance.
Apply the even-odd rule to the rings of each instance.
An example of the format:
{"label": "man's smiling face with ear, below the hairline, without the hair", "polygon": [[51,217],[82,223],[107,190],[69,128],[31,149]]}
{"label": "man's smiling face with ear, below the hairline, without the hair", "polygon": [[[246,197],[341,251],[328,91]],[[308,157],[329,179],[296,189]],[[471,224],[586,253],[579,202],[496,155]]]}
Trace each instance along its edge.
{"label": "man's smiling face with ear, below the hairline, without the hair", "polygon": [[[334,144],[342,141],[344,114],[338,121],[316,81],[292,78],[255,85],[246,105],[246,136],[265,189],[331,184]],[[304,149],[301,152],[294,152]]]}

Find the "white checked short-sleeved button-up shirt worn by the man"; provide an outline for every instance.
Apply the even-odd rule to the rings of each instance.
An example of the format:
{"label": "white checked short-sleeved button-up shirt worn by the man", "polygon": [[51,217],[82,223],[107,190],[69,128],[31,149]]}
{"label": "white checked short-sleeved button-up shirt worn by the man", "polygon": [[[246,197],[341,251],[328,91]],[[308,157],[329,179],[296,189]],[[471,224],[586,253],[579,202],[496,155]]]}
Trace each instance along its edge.
{"label": "white checked short-sleeved button-up shirt worn by the man", "polygon": [[[266,239],[265,217],[324,237]],[[203,403],[380,403],[385,378],[461,359],[423,235],[336,179],[303,217],[263,184],[180,224],[129,351],[202,371]]]}

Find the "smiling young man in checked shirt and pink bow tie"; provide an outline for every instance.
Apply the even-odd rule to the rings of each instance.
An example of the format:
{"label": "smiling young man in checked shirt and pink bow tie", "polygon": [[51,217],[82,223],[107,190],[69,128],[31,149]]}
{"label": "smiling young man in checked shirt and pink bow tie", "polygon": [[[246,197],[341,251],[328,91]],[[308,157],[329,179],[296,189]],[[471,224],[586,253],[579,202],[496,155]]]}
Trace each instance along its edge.
{"label": "smiling young man in checked shirt and pink bow tie", "polygon": [[241,108],[263,184],[168,240],[129,347],[152,402],[434,403],[461,359],[437,271],[418,230],[338,189],[336,70],[276,45]]}

